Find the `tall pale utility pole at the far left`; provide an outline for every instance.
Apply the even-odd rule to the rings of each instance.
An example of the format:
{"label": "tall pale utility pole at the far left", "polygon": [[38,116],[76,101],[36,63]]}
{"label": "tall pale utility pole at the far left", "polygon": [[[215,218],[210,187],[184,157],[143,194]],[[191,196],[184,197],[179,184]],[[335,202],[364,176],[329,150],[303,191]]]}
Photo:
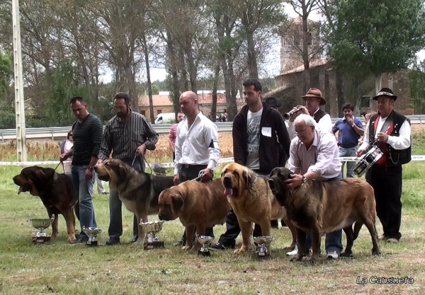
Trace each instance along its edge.
{"label": "tall pale utility pole at the far left", "polygon": [[15,76],[15,114],[16,114],[16,154],[18,162],[27,161],[25,102],[23,100],[21,23],[19,20],[19,0],[12,0],[13,18],[13,74]]}

